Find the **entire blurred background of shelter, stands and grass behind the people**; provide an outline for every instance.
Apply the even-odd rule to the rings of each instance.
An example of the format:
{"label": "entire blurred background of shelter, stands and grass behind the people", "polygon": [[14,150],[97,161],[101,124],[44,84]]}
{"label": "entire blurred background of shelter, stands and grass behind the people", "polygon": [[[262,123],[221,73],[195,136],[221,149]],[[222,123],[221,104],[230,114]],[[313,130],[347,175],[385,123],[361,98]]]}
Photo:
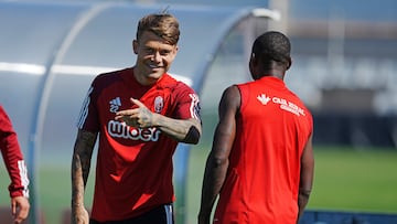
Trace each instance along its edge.
{"label": "entire blurred background of shelter, stands and grass behind the people", "polygon": [[[290,38],[293,63],[286,83],[314,116],[309,211],[342,212],[339,217],[348,220],[329,223],[358,222],[357,214],[363,223],[382,223],[367,214],[395,221],[397,1],[0,0],[0,104],[28,159],[29,223],[63,223],[69,215],[75,120],[88,85],[100,72],[131,66],[138,19],[165,8],[182,30],[171,72],[200,93],[204,127],[200,145],[182,145],[175,154],[178,223],[195,223],[218,100],[227,86],[250,79],[250,45],[267,30]],[[8,213],[4,168],[0,184]]]}

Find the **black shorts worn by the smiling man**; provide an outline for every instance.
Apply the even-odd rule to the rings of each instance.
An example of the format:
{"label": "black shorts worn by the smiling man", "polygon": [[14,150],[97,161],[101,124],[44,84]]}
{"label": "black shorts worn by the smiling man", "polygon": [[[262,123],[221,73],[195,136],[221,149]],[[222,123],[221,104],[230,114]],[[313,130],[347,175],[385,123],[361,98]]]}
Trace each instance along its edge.
{"label": "black shorts worn by the smiling man", "polygon": [[90,218],[89,224],[174,224],[173,205],[163,204],[137,217],[122,221],[97,222]]}

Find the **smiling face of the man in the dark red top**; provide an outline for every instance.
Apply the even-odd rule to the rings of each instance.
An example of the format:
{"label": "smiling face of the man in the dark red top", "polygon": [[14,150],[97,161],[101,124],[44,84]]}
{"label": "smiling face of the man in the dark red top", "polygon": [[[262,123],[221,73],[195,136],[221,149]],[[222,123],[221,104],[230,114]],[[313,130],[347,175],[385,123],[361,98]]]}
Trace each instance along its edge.
{"label": "smiling face of the man in the dark red top", "polygon": [[167,73],[178,52],[176,45],[168,44],[148,31],[135,40],[132,45],[137,54],[135,76],[142,85],[153,84]]}

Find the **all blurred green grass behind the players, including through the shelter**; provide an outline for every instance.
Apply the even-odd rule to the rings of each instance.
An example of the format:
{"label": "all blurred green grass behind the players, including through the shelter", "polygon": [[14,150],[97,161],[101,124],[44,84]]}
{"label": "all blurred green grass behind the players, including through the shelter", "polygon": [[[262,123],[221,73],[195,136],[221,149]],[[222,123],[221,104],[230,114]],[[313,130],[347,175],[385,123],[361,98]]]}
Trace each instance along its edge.
{"label": "all blurred green grass behind the players, including through the shelter", "polygon": [[[201,185],[208,148],[191,150],[187,175],[186,224],[196,223]],[[315,147],[314,186],[308,209],[397,214],[397,150]],[[65,158],[63,159],[65,160]],[[47,224],[61,223],[69,207],[69,161],[46,163],[39,169],[39,203]],[[0,166],[0,205],[9,206],[9,178]],[[94,169],[86,205],[90,205]],[[182,223],[182,222],[179,222]]]}

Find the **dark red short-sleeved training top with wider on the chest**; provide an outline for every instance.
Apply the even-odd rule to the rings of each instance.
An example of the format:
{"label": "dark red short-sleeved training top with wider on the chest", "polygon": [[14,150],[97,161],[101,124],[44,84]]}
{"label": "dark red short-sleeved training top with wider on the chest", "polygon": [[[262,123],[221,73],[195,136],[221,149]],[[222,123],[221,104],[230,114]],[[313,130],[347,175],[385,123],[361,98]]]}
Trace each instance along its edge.
{"label": "dark red short-sleeved training top with wider on the chest", "polygon": [[92,217],[99,222],[140,215],[175,200],[172,156],[178,141],[158,128],[133,128],[115,113],[135,107],[133,97],[161,115],[200,119],[194,90],[168,74],[152,86],[140,85],[132,68],[97,76],[83,105],[78,128],[99,131]]}

